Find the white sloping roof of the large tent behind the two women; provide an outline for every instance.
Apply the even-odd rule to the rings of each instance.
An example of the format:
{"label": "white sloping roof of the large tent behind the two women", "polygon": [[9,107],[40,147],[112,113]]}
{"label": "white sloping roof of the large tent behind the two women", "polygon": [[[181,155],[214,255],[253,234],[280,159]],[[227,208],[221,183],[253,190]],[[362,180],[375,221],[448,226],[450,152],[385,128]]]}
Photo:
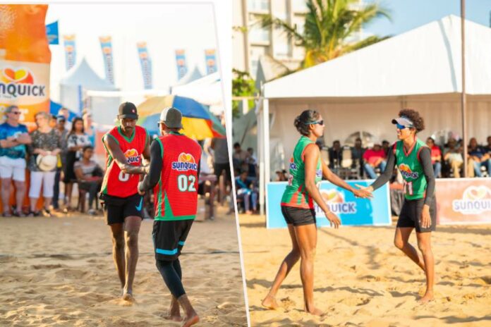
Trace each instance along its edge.
{"label": "white sloping roof of the large tent behind the two women", "polygon": [[[466,20],[466,92],[491,94],[491,28]],[[461,18],[447,16],[268,82],[267,98],[461,92]]]}

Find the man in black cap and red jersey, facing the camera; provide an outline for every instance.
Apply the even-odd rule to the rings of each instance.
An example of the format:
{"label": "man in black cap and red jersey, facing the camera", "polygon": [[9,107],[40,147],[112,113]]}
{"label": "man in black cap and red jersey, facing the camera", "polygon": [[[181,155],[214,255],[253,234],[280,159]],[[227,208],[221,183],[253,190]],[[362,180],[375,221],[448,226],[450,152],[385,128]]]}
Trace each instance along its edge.
{"label": "man in black cap and red jersey, facing the camera", "polygon": [[107,169],[100,198],[111,227],[113,259],[123,288],[123,300],[133,302],[138,232],[143,217],[143,197],[138,194],[137,186],[139,175],[146,172],[142,156],[150,159],[150,136],[145,128],[136,125],[138,113],[131,102],[119,106],[118,119],[119,126],[102,137]]}

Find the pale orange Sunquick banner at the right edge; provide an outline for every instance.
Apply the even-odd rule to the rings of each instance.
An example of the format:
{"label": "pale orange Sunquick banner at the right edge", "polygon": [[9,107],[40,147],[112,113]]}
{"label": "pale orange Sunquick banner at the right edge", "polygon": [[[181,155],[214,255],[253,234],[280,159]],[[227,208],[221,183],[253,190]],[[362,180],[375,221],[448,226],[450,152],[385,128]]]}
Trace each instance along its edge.
{"label": "pale orange Sunquick banner at the right edge", "polygon": [[491,223],[490,178],[437,178],[438,223]]}

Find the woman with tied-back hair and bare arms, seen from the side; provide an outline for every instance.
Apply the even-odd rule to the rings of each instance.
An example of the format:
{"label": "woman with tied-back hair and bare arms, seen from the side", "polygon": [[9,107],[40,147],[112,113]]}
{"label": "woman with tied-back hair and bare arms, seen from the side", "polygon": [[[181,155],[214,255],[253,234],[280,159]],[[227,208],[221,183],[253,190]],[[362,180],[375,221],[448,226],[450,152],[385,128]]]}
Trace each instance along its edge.
{"label": "woman with tied-back hair and bare arms, seen from the side", "polygon": [[315,225],[314,202],[320,206],[331,226],[341,225],[339,218],[329,210],[322,199],[317,184],[325,177],[334,185],[353,192],[356,197],[370,197],[370,192],[356,190],[341,180],[327,168],[320,159],[319,147],[315,140],[324,134],[324,121],[315,110],[305,110],[295,119],[295,127],[301,133],[293,155],[290,159],[290,177],[286,190],[281,198],[281,212],[288,225],[291,237],[291,252],[286,255],[279,266],[279,271],[271,290],[262,305],[275,309],[278,304],[275,296],[284,278],[291,271],[298,259],[301,259],[301,279],[303,284],[304,309],[310,314],[321,315],[315,308],[314,289],[314,254],[317,245],[317,226]]}

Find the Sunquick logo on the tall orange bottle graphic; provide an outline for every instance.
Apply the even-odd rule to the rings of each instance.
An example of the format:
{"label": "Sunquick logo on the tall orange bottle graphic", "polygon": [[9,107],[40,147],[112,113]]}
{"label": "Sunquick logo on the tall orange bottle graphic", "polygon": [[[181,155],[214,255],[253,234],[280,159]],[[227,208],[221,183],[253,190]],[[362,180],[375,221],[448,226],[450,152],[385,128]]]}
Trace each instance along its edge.
{"label": "Sunquick logo on the tall orange bottle graphic", "polygon": [[28,68],[6,67],[0,73],[0,96],[46,97],[46,85],[34,83],[32,72]]}

